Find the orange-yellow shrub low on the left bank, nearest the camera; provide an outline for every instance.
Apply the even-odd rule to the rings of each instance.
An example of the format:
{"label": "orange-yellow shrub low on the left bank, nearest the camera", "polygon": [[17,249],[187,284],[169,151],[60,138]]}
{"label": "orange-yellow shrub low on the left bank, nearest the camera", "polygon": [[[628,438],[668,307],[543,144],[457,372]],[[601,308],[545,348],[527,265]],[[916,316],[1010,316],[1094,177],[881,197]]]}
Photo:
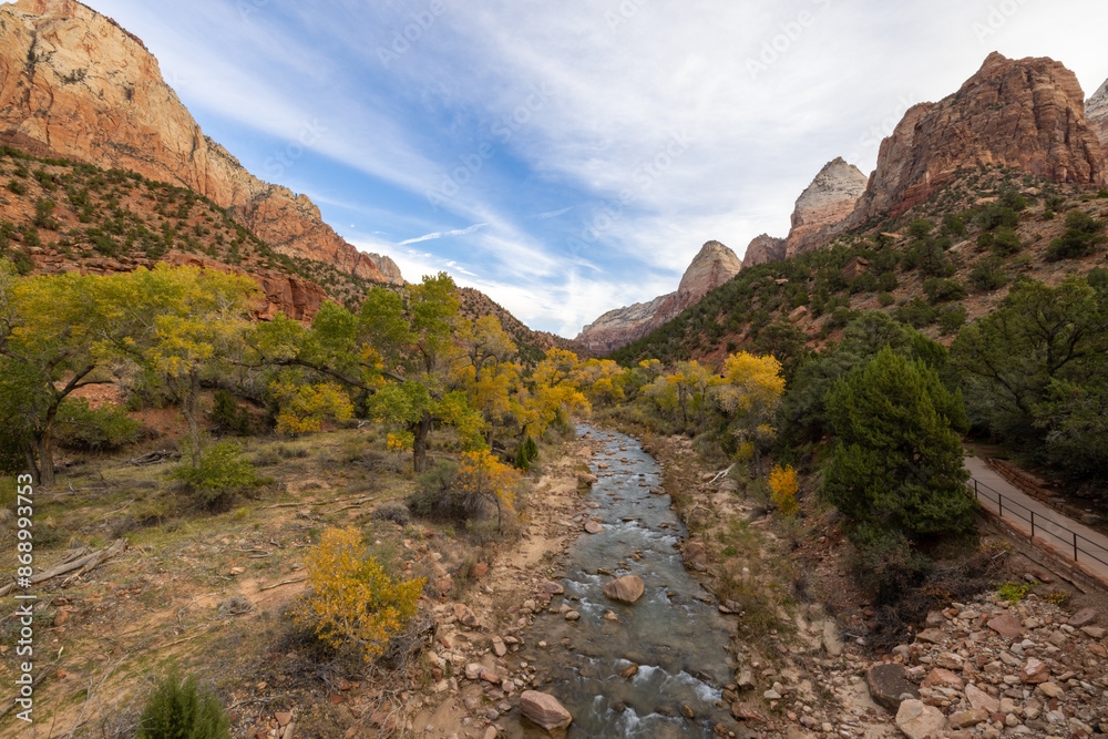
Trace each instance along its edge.
{"label": "orange-yellow shrub low on the left bank, nearest the camera", "polygon": [[367,661],[414,618],[423,578],[389,577],[353,528],[328,528],[305,557],[308,595],[294,620],[334,648],[357,645]]}

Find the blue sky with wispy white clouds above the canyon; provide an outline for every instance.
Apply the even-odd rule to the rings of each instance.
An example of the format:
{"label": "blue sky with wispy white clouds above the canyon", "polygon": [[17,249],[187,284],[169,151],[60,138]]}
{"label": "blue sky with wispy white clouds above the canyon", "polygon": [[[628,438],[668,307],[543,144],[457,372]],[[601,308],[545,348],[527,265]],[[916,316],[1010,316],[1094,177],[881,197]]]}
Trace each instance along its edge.
{"label": "blue sky with wispy white clouds above the canyon", "polygon": [[205,133],[409,280],[575,336],[700,246],[784,236],[989,51],[1108,78],[1102,0],[90,0]]}

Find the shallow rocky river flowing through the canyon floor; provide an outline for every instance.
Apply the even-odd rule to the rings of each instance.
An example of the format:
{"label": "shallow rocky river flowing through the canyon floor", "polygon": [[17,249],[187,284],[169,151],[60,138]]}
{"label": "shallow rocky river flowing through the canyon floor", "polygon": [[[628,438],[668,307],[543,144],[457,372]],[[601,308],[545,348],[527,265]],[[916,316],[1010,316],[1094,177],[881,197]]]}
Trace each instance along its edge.
{"label": "shallow rocky river flowing through the canyon floor", "polygon": [[[661,469],[630,437],[589,427],[578,434],[602,444],[591,462],[599,481],[585,503],[598,504],[591,513],[604,531],[583,533],[571,546],[565,593],[551,602],[556,609],[563,598],[581,619],[544,612],[529,629],[536,666],[553,677],[540,689],[573,714],[571,739],[710,737],[728,716],[715,704],[733,674],[729,634],[709,594],[685,569],[677,545],[686,530],[669,496],[650,493]],[[646,593],[637,603],[604,595],[605,583],[622,575],[643,578]],[[607,610],[619,622],[605,620]],[[534,649],[540,640],[546,649]],[[622,677],[632,664],[638,673]]]}

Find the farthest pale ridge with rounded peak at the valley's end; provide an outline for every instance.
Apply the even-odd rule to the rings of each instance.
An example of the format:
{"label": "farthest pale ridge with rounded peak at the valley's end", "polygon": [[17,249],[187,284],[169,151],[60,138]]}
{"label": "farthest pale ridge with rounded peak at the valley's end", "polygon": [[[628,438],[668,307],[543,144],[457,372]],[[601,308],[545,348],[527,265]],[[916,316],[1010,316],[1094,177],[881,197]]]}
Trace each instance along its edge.
{"label": "farthest pale ridge with rounded peak at the valley's end", "polygon": [[740,269],[742,261],[735,252],[719,242],[708,242],[685,271],[676,292],[659,296],[649,302],[609,310],[586,326],[575,341],[598,355],[618,349],[696,305]]}

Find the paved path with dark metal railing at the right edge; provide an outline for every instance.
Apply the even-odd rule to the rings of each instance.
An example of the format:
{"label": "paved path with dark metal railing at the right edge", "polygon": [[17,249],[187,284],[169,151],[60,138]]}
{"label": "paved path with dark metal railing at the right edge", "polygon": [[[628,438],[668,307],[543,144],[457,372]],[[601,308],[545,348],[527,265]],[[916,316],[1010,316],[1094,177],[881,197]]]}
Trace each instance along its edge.
{"label": "paved path with dark metal railing at the right edge", "polygon": [[[967,456],[965,465],[977,481],[977,500],[982,507],[993,514],[999,513],[1004,523],[1027,536],[1034,534],[1036,546],[1051,548],[1070,562],[1074,561],[1076,533],[1077,562],[1080,568],[1108,585],[1108,536],[1032,497],[977,456]],[[970,484],[973,485],[973,481]]]}

